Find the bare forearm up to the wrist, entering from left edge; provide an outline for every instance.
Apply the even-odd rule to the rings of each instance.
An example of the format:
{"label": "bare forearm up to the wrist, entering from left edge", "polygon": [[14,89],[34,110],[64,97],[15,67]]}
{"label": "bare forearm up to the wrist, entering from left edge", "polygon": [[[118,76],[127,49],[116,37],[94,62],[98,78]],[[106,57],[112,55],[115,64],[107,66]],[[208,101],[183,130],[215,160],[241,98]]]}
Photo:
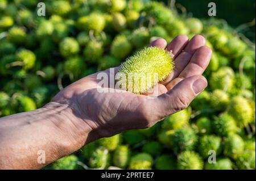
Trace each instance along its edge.
{"label": "bare forearm up to the wrist, entering from left edge", "polygon": [[[65,104],[0,119],[0,169],[40,169],[88,141],[90,129]],[[38,157],[45,153],[45,163]]]}

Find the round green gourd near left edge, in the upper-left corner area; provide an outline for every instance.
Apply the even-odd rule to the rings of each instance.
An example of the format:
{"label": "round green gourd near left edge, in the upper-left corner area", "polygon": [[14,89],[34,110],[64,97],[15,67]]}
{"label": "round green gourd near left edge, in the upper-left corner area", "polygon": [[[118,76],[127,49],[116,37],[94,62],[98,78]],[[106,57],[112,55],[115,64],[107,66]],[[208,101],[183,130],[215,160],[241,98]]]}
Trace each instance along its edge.
{"label": "round green gourd near left edge, in the upper-left corner area", "polygon": [[7,39],[14,44],[22,44],[26,40],[26,32],[20,27],[12,27],[8,32]]}

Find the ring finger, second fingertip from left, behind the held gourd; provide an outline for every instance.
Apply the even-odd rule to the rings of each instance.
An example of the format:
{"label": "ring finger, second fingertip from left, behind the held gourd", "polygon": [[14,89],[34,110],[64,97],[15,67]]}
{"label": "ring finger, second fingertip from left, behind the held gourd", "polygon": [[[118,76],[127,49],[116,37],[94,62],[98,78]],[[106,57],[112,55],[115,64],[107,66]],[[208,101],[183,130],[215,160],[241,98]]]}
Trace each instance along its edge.
{"label": "ring finger, second fingertip from left, behind the held gourd", "polygon": [[179,53],[184,49],[184,47],[188,43],[188,37],[186,35],[176,36],[175,39],[171,41],[170,44],[167,45],[167,50],[172,50],[172,54],[174,54],[174,58],[179,55]]}

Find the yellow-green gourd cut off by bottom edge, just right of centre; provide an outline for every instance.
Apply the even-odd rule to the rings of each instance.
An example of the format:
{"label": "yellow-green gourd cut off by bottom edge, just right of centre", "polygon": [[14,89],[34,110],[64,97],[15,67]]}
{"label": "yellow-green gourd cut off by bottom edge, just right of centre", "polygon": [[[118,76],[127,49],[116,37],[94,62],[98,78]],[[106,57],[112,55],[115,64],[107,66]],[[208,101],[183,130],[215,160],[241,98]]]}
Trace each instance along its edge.
{"label": "yellow-green gourd cut off by bottom edge, just right of centre", "polygon": [[131,157],[131,161],[129,163],[129,169],[133,170],[148,170],[151,169],[153,164],[153,158],[150,154],[147,153],[139,153]]}

